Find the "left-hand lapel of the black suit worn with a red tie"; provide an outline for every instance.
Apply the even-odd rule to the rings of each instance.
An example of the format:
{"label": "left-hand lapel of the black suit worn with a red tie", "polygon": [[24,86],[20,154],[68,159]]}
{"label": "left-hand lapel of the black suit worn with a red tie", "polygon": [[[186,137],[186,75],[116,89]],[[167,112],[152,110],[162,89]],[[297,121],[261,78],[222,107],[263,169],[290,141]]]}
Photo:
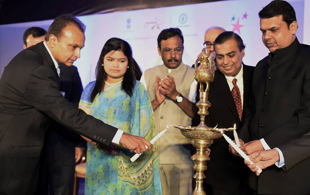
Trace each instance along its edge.
{"label": "left-hand lapel of the black suit worn with a red tie", "polygon": [[216,89],[222,95],[223,99],[227,103],[227,105],[230,108],[230,110],[232,111],[233,115],[236,117],[236,119],[238,121],[240,121],[235,101],[232,98],[232,93],[229,89],[229,86],[228,86],[228,83],[227,83],[227,80],[226,80],[224,74],[221,73],[219,70],[217,70],[215,73],[216,73],[216,76],[214,77],[214,79],[215,78],[217,78],[217,79],[215,79],[214,82],[218,85],[216,87]]}

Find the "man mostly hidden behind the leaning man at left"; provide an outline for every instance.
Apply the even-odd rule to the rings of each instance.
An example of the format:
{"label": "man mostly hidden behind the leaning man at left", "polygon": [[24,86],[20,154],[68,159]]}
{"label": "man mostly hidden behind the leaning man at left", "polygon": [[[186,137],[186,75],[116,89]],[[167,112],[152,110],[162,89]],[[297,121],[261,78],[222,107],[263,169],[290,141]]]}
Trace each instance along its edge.
{"label": "man mostly hidden behind the leaning man at left", "polygon": [[[46,30],[31,27],[24,32],[24,49],[45,41]],[[75,66],[59,64],[60,92],[76,107],[81,98],[83,86]],[[81,159],[85,141],[58,123],[53,123],[45,132],[37,193],[73,193],[75,164]]]}

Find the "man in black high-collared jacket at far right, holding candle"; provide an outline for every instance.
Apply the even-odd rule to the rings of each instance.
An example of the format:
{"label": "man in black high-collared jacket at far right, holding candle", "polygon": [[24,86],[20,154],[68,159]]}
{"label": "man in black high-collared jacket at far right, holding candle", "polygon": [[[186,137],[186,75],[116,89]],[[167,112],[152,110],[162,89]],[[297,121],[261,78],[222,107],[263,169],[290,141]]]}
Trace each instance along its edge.
{"label": "man in black high-collared jacket at far right, holding candle", "polygon": [[250,141],[241,150],[264,170],[259,177],[252,174],[249,185],[255,194],[310,194],[310,46],[299,43],[288,2],[272,1],[259,17],[270,53],[255,68],[251,109],[242,128],[249,129],[252,141],[239,136]]}

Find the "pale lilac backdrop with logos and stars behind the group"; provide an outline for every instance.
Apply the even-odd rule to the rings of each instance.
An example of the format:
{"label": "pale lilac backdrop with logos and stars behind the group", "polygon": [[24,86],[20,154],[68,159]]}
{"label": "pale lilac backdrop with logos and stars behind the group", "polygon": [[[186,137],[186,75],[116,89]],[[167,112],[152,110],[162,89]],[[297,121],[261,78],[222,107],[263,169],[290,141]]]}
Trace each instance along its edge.
{"label": "pale lilac backdrop with logos and stars behind the group", "polygon": [[[95,67],[104,43],[111,37],[129,42],[141,70],[161,64],[157,36],[165,28],[180,28],[184,36],[183,62],[192,65],[201,52],[204,33],[220,26],[238,33],[246,44],[243,62],[250,66],[268,54],[261,41],[258,12],[270,0],[236,0],[162,7],[78,17],[86,24],[85,47],[78,67],[84,87],[95,80]],[[310,0],[288,1],[296,11],[299,42],[310,44]],[[52,20],[0,25],[0,76],[4,67],[23,49],[23,33],[32,26],[48,29]]]}

